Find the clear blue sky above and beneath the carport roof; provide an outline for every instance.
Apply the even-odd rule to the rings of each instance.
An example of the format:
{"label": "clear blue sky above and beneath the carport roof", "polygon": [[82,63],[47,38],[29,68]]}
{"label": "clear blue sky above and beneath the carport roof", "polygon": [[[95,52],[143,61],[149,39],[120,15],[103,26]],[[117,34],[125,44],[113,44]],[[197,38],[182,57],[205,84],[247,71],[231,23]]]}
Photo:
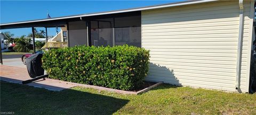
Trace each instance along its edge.
{"label": "clear blue sky above and beneath the carport roof", "polygon": [[[46,18],[47,11],[51,17],[129,9],[134,7],[179,2],[177,1],[0,1],[0,23],[27,21]],[[38,28],[44,29],[44,28]],[[31,28],[6,29],[16,37],[28,35]],[[50,30],[55,34],[55,29]]]}

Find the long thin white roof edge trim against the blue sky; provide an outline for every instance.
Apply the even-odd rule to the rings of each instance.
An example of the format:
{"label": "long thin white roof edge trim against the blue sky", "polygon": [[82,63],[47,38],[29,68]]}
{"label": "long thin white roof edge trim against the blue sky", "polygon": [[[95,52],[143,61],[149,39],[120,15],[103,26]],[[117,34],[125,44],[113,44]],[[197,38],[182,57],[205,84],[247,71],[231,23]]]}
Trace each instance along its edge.
{"label": "long thin white roof edge trim against the blue sky", "polygon": [[153,5],[153,6],[139,7],[139,8],[134,8],[134,9],[115,10],[115,11],[98,12],[98,13],[87,13],[87,14],[80,14],[80,15],[70,15],[70,16],[67,16],[67,17],[57,17],[57,18],[50,18],[50,19],[39,19],[39,20],[29,20],[29,21],[2,23],[2,24],[0,24],[0,29],[3,26],[11,26],[11,25],[15,25],[15,24],[34,23],[34,22],[43,22],[43,21],[57,21],[57,20],[63,20],[63,19],[91,17],[91,16],[96,16],[96,15],[105,15],[105,14],[115,14],[115,13],[125,13],[125,12],[134,12],[134,11],[161,9],[161,8],[165,8],[165,7],[174,7],[174,6],[189,5],[189,4],[199,4],[199,3],[213,2],[213,1],[218,1],[218,0],[183,1],[183,2],[175,2],[175,3],[169,3],[169,4],[162,4],[162,5]]}

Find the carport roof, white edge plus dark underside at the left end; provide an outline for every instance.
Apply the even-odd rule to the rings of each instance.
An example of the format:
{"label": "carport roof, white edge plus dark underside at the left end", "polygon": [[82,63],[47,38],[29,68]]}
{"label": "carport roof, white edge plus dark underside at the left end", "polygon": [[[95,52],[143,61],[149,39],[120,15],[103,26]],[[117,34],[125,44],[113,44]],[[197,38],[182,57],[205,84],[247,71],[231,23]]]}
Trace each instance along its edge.
{"label": "carport roof, white edge plus dark underside at the left end", "polygon": [[2,23],[2,24],[0,24],[0,29],[40,27],[40,26],[42,26],[42,27],[54,27],[54,26],[57,26],[57,25],[66,24],[67,19],[92,17],[92,16],[97,16],[97,15],[116,14],[116,13],[125,13],[125,12],[134,12],[134,11],[143,11],[143,10],[151,10],[151,9],[161,9],[161,8],[165,8],[165,7],[174,7],[174,6],[198,4],[198,3],[213,2],[213,1],[218,1],[218,0],[183,1],[183,2],[162,4],[162,5],[139,7],[139,8],[134,8],[134,9],[115,10],[115,11],[108,11],[108,12],[70,15],[70,16],[67,16],[67,17],[57,17],[57,18],[49,18],[49,19],[39,19],[39,20],[30,20],[30,21]]}

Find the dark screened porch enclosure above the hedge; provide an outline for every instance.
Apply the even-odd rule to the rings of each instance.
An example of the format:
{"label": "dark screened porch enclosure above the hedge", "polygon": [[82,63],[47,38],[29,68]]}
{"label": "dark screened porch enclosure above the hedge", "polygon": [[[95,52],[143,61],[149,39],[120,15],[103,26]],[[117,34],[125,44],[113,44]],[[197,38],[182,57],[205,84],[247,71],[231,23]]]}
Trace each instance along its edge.
{"label": "dark screened porch enclosure above the hedge", "polygon": [[132,45],[141,47],[141,14],[125,13],[68,22],[69,47]]}

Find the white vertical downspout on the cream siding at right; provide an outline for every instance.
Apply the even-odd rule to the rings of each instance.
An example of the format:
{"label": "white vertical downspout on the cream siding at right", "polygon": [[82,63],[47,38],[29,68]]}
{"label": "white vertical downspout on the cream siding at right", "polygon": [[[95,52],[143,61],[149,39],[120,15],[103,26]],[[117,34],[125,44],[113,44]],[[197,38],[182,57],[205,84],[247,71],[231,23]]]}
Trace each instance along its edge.
{"label": "white vertical downspout on the cream siding at right", "polygon": [[239,79],[241,75],[241,57],[242,57],[242,44],[243,44],[243,22],[244,22],[244,6],[243,0],[239,0],[239,34],[238,34],[238,44],[237,44],[237,63],[236,63],[236,89],[239,88]]}

